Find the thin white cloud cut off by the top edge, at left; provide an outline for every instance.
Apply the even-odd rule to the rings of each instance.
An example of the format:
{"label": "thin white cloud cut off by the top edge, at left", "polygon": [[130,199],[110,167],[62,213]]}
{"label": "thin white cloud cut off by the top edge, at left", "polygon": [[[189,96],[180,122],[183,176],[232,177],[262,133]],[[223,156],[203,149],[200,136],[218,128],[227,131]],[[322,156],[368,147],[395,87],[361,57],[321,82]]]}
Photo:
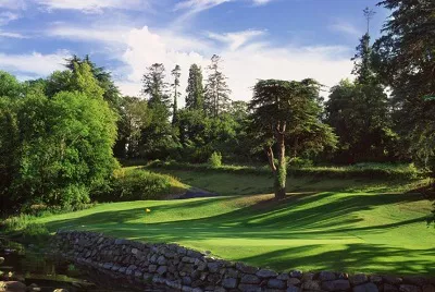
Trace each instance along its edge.
{"label": "thin white cloud cut off by the top edge, at left", "polygon": [[148,0],[36,0],[48,10],[80,10],[100,13],[104,9],[136,10],[148,7]]}

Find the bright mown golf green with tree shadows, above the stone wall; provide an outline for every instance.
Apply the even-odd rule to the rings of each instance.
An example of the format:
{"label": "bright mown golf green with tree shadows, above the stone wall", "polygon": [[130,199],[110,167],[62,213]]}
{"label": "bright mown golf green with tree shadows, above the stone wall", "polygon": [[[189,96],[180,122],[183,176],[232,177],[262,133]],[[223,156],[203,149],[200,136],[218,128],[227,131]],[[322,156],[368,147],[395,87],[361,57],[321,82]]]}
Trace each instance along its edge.
{"label": "bright mown golf green with tree shadows, above the stone wall", "polygon": [[[104,204],[40,218],[51,232],[77,229],[176,242],[278,270],[435,272],[430,200],[420,194],[299,193]],[[145,209],[151,212],[146,214]]]}

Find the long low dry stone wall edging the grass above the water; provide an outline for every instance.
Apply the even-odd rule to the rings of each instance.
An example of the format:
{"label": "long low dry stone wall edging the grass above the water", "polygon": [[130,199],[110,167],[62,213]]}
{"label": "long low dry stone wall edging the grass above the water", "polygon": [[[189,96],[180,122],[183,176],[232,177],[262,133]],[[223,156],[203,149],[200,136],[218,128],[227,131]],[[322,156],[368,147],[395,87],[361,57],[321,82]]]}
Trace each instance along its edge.
{"label": "long low dry stone wall edging the grass above the water", "polygon": [[59,231],[52,247],[65,259],[114,279],[164,287],[167,291],[435,292],[435,280],[423,277],[276,272],[176,244],[140,243],[101,233]]}

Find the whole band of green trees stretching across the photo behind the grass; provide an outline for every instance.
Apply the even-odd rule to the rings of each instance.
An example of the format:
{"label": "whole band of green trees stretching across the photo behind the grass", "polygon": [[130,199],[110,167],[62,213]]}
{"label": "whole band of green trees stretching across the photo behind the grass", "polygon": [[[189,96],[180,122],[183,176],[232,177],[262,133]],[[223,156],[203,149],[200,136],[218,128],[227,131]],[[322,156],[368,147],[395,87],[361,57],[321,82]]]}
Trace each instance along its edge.
{"label": "whole band of green trees stretching across the photo behind the grass", "polygon": [[250,102],[232,100],[219,56],[204,72],[192,64],[188,76],[152,64],[139,97],[122,96],[88,57],[44,80],[20,83],[1,72],[1,206],[87,203],[110,188],[114,157],[269,162],[281,194],[288,163],[412,161],[434,173],[435,2],[381,4],[393,11],[383,36],[373,44],[362,36],[355,81],[327,99],[307,78],[259,81]]}

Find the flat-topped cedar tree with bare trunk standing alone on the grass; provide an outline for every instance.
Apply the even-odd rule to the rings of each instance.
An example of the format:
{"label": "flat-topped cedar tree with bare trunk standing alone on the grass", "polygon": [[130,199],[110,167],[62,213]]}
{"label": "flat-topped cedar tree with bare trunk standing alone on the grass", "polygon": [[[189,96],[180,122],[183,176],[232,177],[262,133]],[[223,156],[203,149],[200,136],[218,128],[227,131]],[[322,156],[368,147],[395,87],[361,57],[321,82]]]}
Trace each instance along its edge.
{"label": "flat-topped cedar tree with bare trunk standing alone on the grass", "polygon": [[[249,104],[252,111],[251,129],[266,153],[275,179],[276,199],[286,195],[286,144],[289,144],[289,139],[298,141],[299,137],[307,136],[309,138],[304,143],[313,143],[316,147],[335,144],[332,129],[320,121],[319,90],[320,84],[313,80],[265,80],[259,81],[253,88],[253,97]],[[323,138],[312,138],[319,135]],[[274,145],[277,165],[272,148]]]}

